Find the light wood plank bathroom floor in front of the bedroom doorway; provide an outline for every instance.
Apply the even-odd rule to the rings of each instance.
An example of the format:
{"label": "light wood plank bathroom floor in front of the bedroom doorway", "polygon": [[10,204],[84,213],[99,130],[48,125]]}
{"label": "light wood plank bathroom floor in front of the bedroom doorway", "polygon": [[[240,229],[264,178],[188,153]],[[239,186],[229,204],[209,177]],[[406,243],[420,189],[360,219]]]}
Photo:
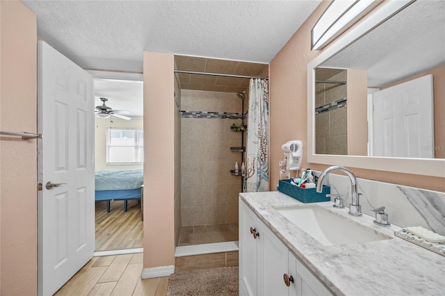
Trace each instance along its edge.
{"label": "light wood plank bathroom floor in front of the bedroom doorway", "polygon": [[55,295],[167,295],[168,277],[140,279],[142,270],[142,253],[93,257]]}

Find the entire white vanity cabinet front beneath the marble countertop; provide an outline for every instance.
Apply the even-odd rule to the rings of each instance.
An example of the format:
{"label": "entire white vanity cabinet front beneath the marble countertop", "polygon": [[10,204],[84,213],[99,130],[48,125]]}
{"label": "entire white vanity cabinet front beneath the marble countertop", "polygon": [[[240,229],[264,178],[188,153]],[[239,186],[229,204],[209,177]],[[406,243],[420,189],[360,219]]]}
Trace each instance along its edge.
{"label": "entire white vanity cabinet front beneath the marble countertop", "polygon": [[239,254],[240,295],[332,295],[241,199]]}

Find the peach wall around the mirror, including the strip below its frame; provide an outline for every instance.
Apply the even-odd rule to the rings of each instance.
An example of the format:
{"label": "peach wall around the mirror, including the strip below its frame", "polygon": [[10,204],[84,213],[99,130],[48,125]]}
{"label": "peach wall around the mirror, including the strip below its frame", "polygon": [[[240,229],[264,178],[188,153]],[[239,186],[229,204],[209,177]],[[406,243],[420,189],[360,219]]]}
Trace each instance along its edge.
{"label": "peach wall around the mirror, including the strip below its frame", "polygon": [[[283,158],[281,145],[286,141],[303,141],[302,167],[310,167],[313,170],[325,170],[327,167],[307,163],[307,64],[321,52],[310,50],[311,29],[329,3],[330,1],[320,3],[269,64],[271,190],[275,190],[278,183],[278,161]],[[445,191],[444,179],[439,177],[355,168],[353,172],[366,179]]]}

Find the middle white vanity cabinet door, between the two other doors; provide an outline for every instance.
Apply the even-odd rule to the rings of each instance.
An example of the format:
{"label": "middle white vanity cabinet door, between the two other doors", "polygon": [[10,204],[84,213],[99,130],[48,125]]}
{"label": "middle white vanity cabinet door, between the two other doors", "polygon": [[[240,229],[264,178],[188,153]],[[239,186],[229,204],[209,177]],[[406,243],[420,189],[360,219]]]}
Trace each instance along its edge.
{"label": "middle white vanity cabinet door, between the two other doors", "polygon": [[284,274],[288,270],[289,249],[265,224],[261,224],[259,255],[262,258],[258,261],[259,295],[287,296],[289,288],[284,283]]}

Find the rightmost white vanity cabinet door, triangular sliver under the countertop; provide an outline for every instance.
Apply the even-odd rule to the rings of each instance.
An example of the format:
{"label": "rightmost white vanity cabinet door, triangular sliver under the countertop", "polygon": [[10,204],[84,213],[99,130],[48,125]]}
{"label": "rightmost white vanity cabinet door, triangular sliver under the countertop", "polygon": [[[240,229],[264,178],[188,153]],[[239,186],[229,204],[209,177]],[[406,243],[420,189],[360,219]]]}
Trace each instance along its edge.
{"label": "rightmost white vanity cabinet door, triangular sliver under the countertop", "polygon": [[296,274],[295,283],[291,285],[289,295],[332,295],[330,290],[292,252],[289,252],[289,272]]}

